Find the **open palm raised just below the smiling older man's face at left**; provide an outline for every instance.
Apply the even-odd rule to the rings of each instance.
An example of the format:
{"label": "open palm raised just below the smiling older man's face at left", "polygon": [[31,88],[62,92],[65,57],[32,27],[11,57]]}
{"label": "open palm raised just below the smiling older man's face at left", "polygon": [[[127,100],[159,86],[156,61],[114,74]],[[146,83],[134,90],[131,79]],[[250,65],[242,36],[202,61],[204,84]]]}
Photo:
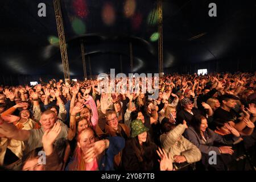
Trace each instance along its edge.
{"label": "open palm raised just below the smiling older man's face at left", "polygon": [[47,146],[50,146],[53,144],[53,142],[56,140],[56,138],[59,136],[61,131],[60,122],[56,122],[52,129],[47,130],[44,132],[44,135],[42,137],[42,143]]}

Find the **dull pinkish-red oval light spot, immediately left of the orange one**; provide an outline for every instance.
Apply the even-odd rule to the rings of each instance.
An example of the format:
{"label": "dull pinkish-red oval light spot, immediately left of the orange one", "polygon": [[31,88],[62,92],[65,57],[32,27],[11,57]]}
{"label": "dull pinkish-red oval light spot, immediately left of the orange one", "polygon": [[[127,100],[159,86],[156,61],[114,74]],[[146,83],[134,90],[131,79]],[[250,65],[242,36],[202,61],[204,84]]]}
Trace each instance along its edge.
{"label": "dull pinkish-red oval light spot, immediately left of the orange one", "polygon": [[110,3],[105,3],[101,16],[106,25],[112,25],[115,22],[114,7]]}

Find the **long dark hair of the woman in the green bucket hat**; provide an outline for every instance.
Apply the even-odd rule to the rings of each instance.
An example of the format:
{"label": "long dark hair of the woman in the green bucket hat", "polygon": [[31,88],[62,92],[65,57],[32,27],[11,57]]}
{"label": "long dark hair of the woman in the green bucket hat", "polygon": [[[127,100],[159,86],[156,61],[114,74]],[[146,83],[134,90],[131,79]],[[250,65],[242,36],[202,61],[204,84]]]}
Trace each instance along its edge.
{"label": "long dark hair of the woman in the green bucket hat", "polygon": [[145,169],[152,169],[154,167],[154,152],[155,152],[155,144],[151,142],[150,134],[147,132],[146,142],[142,143],[142,146],[139,144],[139,139],[137,137],[130,138],[131,147],[135,152],[140,163],[146,163],[146,165],[142,165]]}

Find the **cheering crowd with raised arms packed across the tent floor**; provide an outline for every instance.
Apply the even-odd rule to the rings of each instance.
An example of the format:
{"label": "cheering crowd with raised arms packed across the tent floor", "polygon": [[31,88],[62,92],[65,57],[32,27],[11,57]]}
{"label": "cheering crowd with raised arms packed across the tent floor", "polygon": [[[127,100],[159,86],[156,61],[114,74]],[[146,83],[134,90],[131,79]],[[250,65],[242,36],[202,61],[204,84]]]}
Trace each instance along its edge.
{"label": "cheering crowd with raised arms packed across the tent floor", "polygon": [[159,78],[157,99],[104,93],[100,80],[1,85],[0,167],[230,170],[241,159],[253,169],[255,81],[256,73],[173,73]]}

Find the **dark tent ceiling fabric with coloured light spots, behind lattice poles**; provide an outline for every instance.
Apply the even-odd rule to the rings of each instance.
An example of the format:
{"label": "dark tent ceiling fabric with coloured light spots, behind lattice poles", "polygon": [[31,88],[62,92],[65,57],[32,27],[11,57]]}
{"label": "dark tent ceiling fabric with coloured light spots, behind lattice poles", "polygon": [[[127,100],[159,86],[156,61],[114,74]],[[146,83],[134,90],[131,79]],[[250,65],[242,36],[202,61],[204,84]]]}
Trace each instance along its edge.
{"label": "dark tent ceiling fabric with coloured light spots, behind lattice poles", "polygon": [[[38,4],[46,4],[46,17]],[[164,68],[254,55],[256,2],[214,1],[217,17],[209,17],[211,1],[163,1]],[[63,74],[52,0],[4,0],[1,4],[2,73]],[[82,75],[80,40],[85,41],[93,75],[129,69],[129,43],[133,44],[134,72],[158,72],[158,31],[153,0],[62,0],[69,68]],[[155,17],[154,17],[155,13]],[[198,38],[197,38],[198,37]]]}

